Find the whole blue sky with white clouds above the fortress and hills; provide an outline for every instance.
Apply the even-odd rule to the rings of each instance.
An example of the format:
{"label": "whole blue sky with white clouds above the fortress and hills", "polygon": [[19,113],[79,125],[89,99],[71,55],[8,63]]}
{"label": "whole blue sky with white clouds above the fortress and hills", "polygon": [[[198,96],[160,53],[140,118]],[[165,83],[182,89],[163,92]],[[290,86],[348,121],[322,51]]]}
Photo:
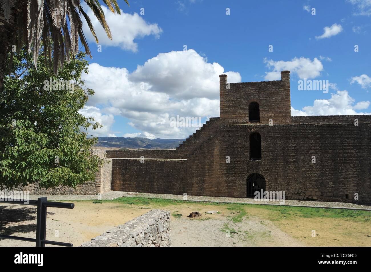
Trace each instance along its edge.
{"label": "whole blue sky with white clouds above the fortress and hills", "polygon": [[[93,20],[101,51],[84,28],[96,94],[82,112],[103,125],[91,133],[185,138],[196,128],[169,118],[219,116],[221,73],[247,82],[290,70],[292,115],[370,114],[370,0],[225,2],[119,1],[121,16],[105,13],[112,41]],[[304,77],[331,88],[299,91]]]}

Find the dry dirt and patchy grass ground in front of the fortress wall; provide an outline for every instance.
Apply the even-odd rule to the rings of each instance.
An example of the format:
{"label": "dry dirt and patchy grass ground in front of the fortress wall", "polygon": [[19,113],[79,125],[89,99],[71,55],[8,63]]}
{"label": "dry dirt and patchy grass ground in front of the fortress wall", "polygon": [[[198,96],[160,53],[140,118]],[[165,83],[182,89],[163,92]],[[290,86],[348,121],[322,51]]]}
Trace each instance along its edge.
{"label": "dry dirt and patchy grass ground in front of the fortress wall", "polygon": [[[150,209],[171,211],[173,246],[371,246],[371,212],[124,197],[48,208],[47,239],[79,246]],[[206,214],[207,211],[217,214]],[[198,211],[198,218],[188,218]],[[0,204],[0,233],[35,237],[36,207]],[[313,237],[313,231],[316,236]],[[0,240],[0,246],[33,246]]]}

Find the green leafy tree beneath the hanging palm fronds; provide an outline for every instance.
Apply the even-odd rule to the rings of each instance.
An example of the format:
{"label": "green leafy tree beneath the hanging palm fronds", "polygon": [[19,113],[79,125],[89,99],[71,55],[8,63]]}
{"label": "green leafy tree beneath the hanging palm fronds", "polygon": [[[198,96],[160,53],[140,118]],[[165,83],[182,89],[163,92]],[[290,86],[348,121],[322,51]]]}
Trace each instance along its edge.
{"label": "green leafy tree beneath the hanging palm fronds", "polygon": [[92,154],[97,138],[87,138],[87,129],[100,125],[79,113],[94,94],[82,88],[84,57],[79,52],[55,76],[43,54],[37,69],[26,49],[13,56],[0,107],[1,188],[33,182],[76,187],[94,180],[102,159]]}

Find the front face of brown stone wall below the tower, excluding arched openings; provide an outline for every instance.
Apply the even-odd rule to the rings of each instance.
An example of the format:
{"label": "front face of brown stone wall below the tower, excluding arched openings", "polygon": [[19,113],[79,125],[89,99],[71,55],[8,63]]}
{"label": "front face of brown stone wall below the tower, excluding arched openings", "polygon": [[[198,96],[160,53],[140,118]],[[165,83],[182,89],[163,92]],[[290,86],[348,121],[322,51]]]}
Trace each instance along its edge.
{"label": "front face of brown stone wall below the tower, excluding arched openings", "polygon": [[[113,159],[112,189],[246,197],[246,178],[257,172],[267,191],[285,191],[286,199],[370,204],[370,128],[370,123],[227,125],[187,160]],[[246,159],[248,135],[256,131],[262,135],[260,161]]]}

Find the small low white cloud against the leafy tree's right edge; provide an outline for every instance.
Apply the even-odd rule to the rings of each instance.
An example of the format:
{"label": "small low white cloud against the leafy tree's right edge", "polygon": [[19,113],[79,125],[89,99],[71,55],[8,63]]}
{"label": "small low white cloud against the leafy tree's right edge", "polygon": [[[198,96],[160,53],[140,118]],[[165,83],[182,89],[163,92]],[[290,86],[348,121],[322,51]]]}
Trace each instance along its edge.
{"label": "small low white cloud against the leafy tree's right edge", "polygon": [[97,107],[92,106],[85,106],[79,113],[84,115],[85,117],[93,117],[96,122],[102,125],[101,128],[97,128],[93,130],[92,127],[88,128],[88,135],[93,135],[95,137],[117,137],[115,134],[111,132],[112,124],[114,121],[114,116],[112,114],[104,115],[101,113],[101,110]]}

